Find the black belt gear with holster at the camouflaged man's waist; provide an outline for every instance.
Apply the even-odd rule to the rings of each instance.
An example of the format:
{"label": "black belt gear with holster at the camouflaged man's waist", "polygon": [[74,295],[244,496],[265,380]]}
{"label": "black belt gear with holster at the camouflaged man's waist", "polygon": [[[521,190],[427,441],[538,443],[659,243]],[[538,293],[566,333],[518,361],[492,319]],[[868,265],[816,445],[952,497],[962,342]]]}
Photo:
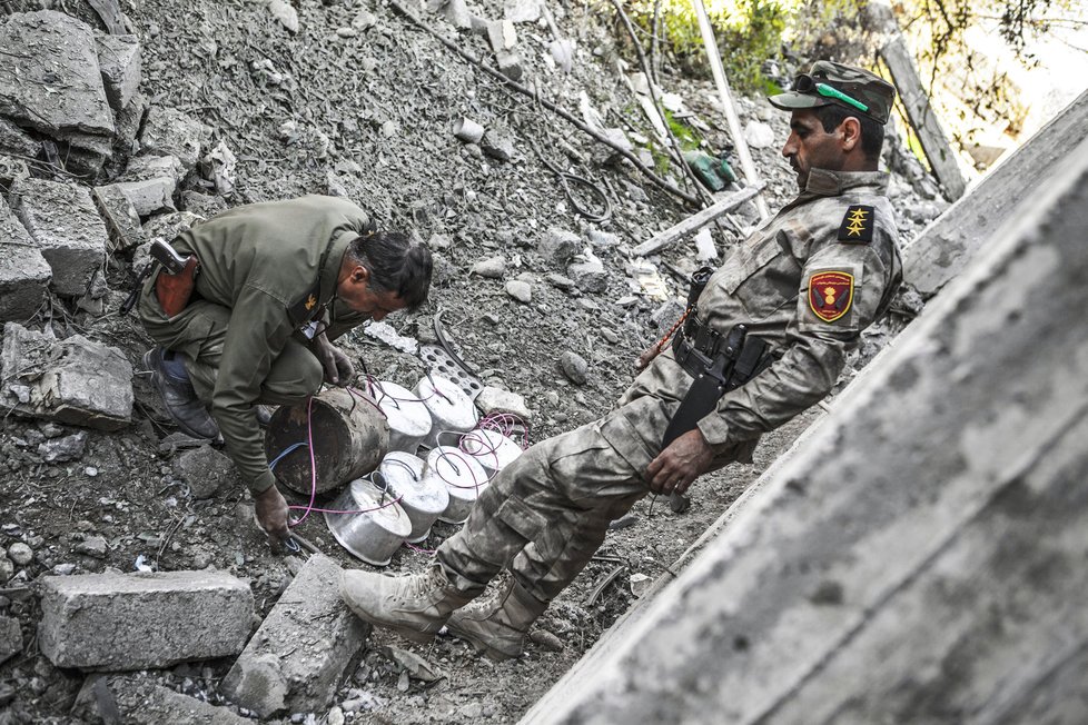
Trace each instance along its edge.
{"label": "black belt gear with holster at the camouflaged man's waist", "polygon": [[694,314],[688,317],[672,349],[676,362],[694,380],[669,421],[662,447],[694,430],[718,407],[723,395],[754,378],[774,359],[766,340],[750,337],[744,325],[736,325],[722,335],[700,322]]}

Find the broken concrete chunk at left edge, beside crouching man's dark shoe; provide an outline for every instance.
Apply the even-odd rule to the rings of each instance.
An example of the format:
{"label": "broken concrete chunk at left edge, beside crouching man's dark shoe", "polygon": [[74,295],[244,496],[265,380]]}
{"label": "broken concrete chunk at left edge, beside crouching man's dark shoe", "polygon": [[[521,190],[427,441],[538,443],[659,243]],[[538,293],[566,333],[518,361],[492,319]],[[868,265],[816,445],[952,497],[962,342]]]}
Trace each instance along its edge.
{"label": "broken concrete chunk at left edge, beside crouching man's dark shoe", "polygon": [[80,335],[56,340],[4,325],[0,403],[16,413],[117,430],[131,420],[132,397],[132,366],[120,350]]}

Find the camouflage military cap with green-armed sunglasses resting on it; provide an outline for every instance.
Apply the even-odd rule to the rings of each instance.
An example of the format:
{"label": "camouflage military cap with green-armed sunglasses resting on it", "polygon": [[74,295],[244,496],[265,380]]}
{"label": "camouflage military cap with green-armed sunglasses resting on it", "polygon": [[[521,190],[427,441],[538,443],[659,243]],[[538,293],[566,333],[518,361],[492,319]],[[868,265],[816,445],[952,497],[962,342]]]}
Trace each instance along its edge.
{"label": "camouflage military cap with green-armed sunglasses resting on it", "polygon": [[809,72],[793,79],[793,90],[771,96],[768,100],[771,106],[787,111],[834,103],[883,125],[888,122],[896,100],[896,89],[868,70],[818,60]]}

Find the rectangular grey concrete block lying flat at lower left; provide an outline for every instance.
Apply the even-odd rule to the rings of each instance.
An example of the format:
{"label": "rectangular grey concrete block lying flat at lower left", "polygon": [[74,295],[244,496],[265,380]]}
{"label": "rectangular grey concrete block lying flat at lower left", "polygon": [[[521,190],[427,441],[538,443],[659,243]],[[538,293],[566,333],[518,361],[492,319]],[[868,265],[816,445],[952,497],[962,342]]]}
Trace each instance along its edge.
{"label": "rectangular grey concrete block lying flat at lower left", "polygon": [[42,579],[38,645],[58,667],[144,669],[241,652],[254,596],[219,572]]}

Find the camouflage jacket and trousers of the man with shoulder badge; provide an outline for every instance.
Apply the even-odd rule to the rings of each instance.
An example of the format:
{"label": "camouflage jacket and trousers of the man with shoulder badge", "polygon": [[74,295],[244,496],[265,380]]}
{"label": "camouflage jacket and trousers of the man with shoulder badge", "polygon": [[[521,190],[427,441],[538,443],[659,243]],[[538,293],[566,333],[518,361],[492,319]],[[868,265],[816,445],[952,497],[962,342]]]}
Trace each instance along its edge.
{"label": "camouflage jacket and trousers of the man with shoulder badge", "polygon": [[[812,169],[805,190],[711,277],[700,320],[722,334],[743,322],[774,357],[699,421],[713,468],[751,461],[761,434],[828,395],[861,330],[888,307],[901,261],[886,185],[876,171]],[[510,565],[527,593],[553,599],[609,523],[650,493],[646,467],[691,381],[665,350],[604,418],[533,446],[503,469],[462,532],[438,548],[451,584],[474,596]]]}

